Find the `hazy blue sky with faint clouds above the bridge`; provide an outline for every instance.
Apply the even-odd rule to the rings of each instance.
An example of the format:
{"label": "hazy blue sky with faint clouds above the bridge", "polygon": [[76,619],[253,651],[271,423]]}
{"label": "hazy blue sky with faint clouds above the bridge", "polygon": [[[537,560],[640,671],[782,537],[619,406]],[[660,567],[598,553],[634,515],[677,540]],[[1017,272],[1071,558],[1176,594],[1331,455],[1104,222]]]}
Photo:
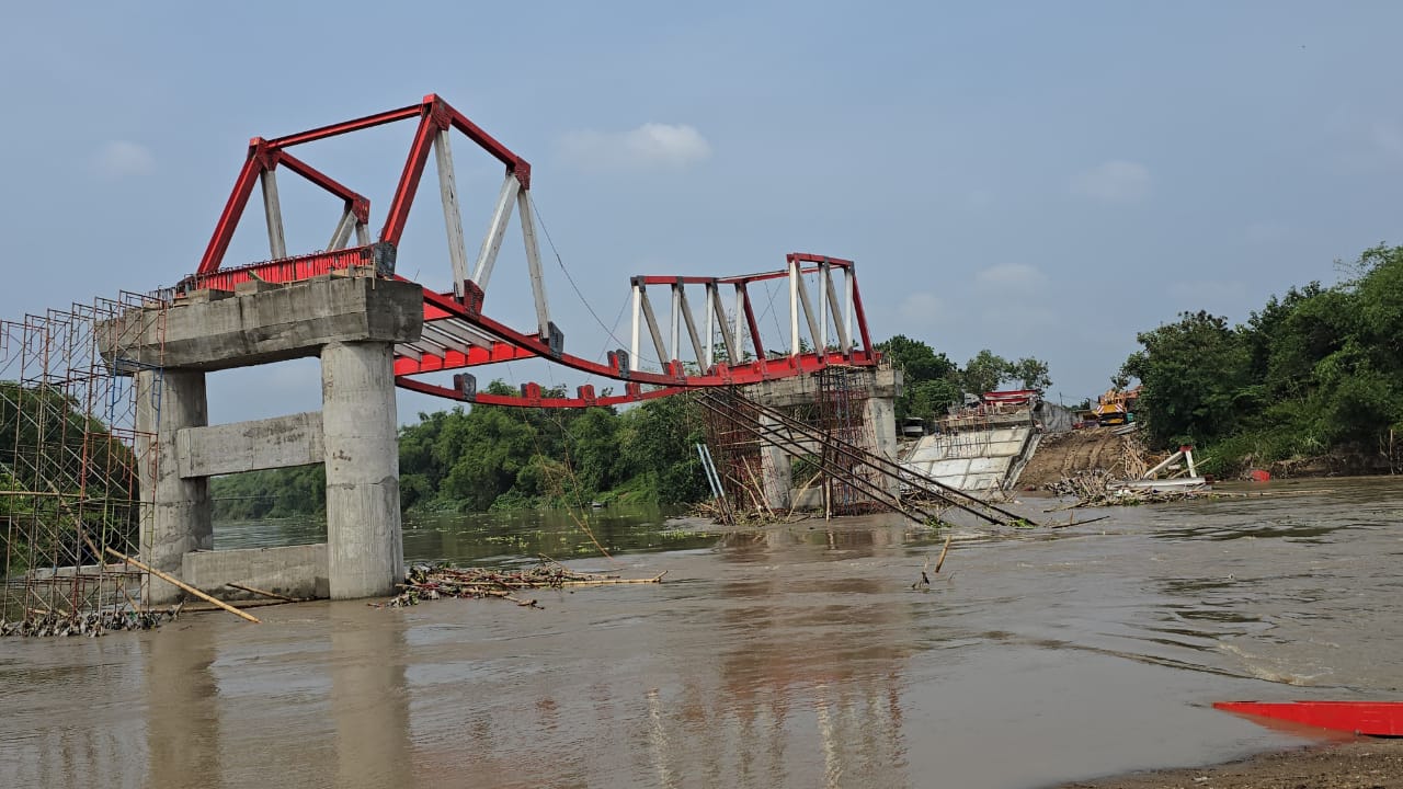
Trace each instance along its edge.
{"label": "hazy blue sky with faint clouds above the bridge", "polygon": [[[4,317],[173,284],[250,136],[427,93],[532,161],[606,324],[633,274],[814,251],[859,263],[877,338],[1040,357],[1068,400],[1181,310],[1242,321],[1403,243],[1393,3],[35,3],[4,20]],[[368,194],[377,227],[411,131],[299,156]],[[501,173],[455,154],[476,248]],[[289,248],[320,248],[338,206],[292,183]],[[400,267],[446,288],[425,184]],[[261,233],[254,208],[227,261],[267,257]],[[488,313],[529,326],[513,260]],[[567,347],[613,347],[553,258],[547,278]],[[216,380],[216,421],[317,404],[314,362]],[[400,416],[435,407],[401,394]]]}

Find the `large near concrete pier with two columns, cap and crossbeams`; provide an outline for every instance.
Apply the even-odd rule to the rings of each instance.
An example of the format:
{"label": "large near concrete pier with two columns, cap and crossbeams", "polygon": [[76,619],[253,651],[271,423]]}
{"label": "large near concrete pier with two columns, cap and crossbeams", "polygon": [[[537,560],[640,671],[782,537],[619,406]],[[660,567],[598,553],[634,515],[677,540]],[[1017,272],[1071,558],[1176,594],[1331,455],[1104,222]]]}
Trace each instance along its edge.
{"label": "large near concrete pier with two columns, cap and crossbeams", "polygon": [[[403,578],[394,345],[419,338],[424,291],[372,274],[244,282],[132,310],[98,327],[139,387],[142,557],[227,597],[241,583],[293,597],[389,595]],[[321,361],[321,411],[209,425],[205,373]],[[324,463],[327,541],[213,550],[209,477]],[[180,590],[152,578],[147,602]]]}

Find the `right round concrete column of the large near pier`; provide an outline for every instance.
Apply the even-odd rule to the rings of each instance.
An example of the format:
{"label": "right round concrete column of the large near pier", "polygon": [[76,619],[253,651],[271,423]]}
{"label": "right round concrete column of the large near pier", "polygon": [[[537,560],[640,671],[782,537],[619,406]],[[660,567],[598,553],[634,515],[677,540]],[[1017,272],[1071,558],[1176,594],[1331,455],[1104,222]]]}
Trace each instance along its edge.
{"label": "right round concrete column of the large near pier", "polygon": [[390,343],[323,347],[321,432],[331,599],[393,594],[404,542]]}

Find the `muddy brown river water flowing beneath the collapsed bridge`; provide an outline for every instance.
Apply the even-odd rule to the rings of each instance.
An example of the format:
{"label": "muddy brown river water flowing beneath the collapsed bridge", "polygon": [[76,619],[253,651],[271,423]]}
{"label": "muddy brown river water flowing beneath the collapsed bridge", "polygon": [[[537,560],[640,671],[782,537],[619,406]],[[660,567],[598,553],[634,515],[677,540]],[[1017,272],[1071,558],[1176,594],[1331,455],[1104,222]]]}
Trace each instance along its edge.
{"label": "muddy brown river water flowing beneath the collapsed bridge", "polygon": [[[606,511],[616,560],[571,563],[664,584],[7,639],[0,786],[1019,789],[1303,744],[1209,705],[1403,699],[1403,483],[1251,490],[957,528],[929,590],[944,535],[895,518],[709,536]],[[405,553],[588,545],[491,524],[415,522]]]}

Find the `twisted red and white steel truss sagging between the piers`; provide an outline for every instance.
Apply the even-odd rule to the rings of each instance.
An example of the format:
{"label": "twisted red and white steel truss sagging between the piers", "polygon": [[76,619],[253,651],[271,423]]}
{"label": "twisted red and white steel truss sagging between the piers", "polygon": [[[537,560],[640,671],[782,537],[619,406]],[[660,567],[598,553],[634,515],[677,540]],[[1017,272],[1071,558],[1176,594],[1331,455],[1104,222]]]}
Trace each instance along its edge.
{"label": "twisted red and white steel truss sagging between the piers", "polygon": [[[379,239],[372,241],[368,232],[369,199],[295,157],[288,149],[407,119],[418,119],[414,142]],[[452,131],[467,136],[476,146],[501,161],[506,170],[488,234],[471,271],[469,270],[453,184],[449,133]],[[853,263],[800,253],[790,254],[787,257],[788,265],[781,271],[741,277],[634,277],[631,281],[634,291],[633,347],[627,351],[622,348],[610,351],[607,364],[567,354],[564,351],[564,333],[550,321],[550,302],[546,298],[532,216],[530,164],[434,94],[425,95],[419,104],[389,112],[271,140],[251,139],[244,166],[219,216],[199,268],[180,284],[177,292],[231,291],[239,282],[250,279],[296,282],[331,272],[404,279],[394,274],[396,248],[431,153],[436,156],[455,289],[441,293],[424,288],[424,337],[417,343],[396,347],[394,373],[396,382],[401,387],[455,400],[504,406],[612,406],[664,397],[690,387],[744,385],[788,378],[835,364],[870,366],[877,362]],[[341,220],[337,223],[325,251],[288,256],[283,246],[282,211],[275,178],[279,166],[342,201]],[[255,184],[262,187],[269,250],[274,260],[222,268],[229,243],[253,197]],[[537,326],[529,331],[513,329],[483,313],[488,279],[513,209],[518,212],[526,246],[529,275],[536,300]],[[351,246],[352,233],[356,246]],[[842,281],[842,288],[835,286],[835,277]],[[786,341],[788,354],[766,351],[752,306],[749,286],[773,279],[787,279],[790,286],[791,336]],[[817,307],[810,298],[805,279],[818,284]],[[671,347],[664,341],[648,300],[650,286],[655,291],[666,288],[671,292]],[[700,291],[704,295],[706,307],[700,320],[687,300],[689,289]],[[735,307],[730,314],[720,303],[723,289],[727,295],[734,289]],[[839,295],[840,289],[842,295]],[[801,316],[803,324],[800,323]],[[644,323],[654,340],[657,358],[664,359],[659,372],[636,366],[640,359],[640,334]],[[704,323],[707,327],[704,341],[703,334],[697,330],[699,323]],[[680,348],[679,337],[682,337],[683,326],[692,340],[694,351],[692,355]],[[829,341],[829,326],[833,327],[833,341]],[[807,329],[807,336],[801,337],[804,329]],[[717,334],[724,341],[721,348],[714,344]],[[744,336],[749,337],[749,343],[744,343]],[[724,359],[720,358],[723,355]],[[466,373],[455,376],[453,387],[410,378],[419,373],[466,369],[526,358],[546,358],[585,373],[622,380],[624,382],[624,393],[596,396],[592,386],[581,386],[574,397],[543,397],[539,385],[528,383],[522,386],[522,396],[516,397],[477,393],[476,380]],[[644,386],[650,389],[645,390]]]}

